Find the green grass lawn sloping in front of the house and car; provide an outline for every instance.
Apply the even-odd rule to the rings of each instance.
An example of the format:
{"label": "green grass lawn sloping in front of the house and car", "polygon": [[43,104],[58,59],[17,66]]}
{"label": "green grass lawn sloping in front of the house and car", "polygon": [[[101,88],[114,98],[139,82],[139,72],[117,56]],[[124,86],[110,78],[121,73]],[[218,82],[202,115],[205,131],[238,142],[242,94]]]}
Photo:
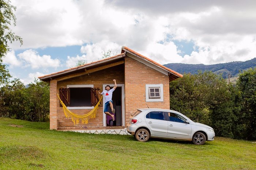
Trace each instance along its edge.
{"label": "green grass lawn sloping in front of the house and car", "polygon": [[49,123],[0,118],[0,169],[256,169],[256,143],[191,142],[49,130]]}

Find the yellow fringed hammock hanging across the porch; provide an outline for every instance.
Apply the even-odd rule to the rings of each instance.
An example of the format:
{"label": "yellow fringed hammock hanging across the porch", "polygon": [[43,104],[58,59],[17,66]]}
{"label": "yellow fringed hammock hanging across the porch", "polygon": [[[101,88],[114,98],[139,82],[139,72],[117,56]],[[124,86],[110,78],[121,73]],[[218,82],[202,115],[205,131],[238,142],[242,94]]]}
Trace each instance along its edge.
{"label": "yellow fringed hammock hanging across the porch", "polygon": [[[57,94],[57,95],[60,99],[59,94]],[[102,97],[103,96],[101,96],[101,99],[102,99]],[[101,101],[101,99],[99,99],[99,102]],[[65,116],[67,118],[71,117],[72,122],[74,122],[74,124],[78,124],[79,120],[81,120],[82,123],[87,124],[88,120],[90,118],[95,118],[96,117],[96,112],[99,109],[99,102],[96,104],[96,106],[94,106],[93,110],[91,110],[89,113],[84,114],[84,115],[77,115],[77,114],[71,112],[70,110],[68,110],[67,106],[65,106],[65,104],[60,99],[60,103],[62,105]]]}

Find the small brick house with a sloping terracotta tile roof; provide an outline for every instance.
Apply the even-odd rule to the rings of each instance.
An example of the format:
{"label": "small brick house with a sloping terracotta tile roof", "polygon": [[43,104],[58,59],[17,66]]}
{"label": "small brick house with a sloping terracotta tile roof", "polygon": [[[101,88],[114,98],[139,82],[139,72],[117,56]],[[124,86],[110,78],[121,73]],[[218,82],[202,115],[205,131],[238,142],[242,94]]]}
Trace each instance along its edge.
{"label": "small brick house with a sloping terracotta tile roof", "polygon": [[[108,133],[109,129],[125,130],[129,116],[136,108],[148,106],[169,109],[169,82],[181,77],[181,74],[122,47],[121,54],[116,56],[41,76],[39,79],[50,83],[50,129],[89,133],[102,130]],[[116,109],[113,126],[107,122],[108,118],[101,106],[96,118],[90,119],[87,124],[79,122],[74,125],[70,118],[65,117],[57,93],[61,95],[68,91],[68,109],[76,114],[86,114],[95,104],[91,89],[101,88],[99,91],[102,92],[106,85],[114,86],[113,79],[117,82],[112,98]],[[105,102],[102,103],[104,105]]]}

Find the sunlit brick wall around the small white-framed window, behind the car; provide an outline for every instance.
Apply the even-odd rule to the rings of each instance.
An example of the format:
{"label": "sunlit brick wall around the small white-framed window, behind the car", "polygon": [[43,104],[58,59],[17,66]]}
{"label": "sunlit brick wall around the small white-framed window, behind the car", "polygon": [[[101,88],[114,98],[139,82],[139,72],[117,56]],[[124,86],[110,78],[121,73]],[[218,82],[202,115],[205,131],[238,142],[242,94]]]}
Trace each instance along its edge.
{"label": "sunlit brick wall around the small white-framed window, behind the car", "polygon": [[[163,84],[163,102],[146,102],[146,84]],[[125,57],[125,126],[136,108],[170,109],[169,76]]]}

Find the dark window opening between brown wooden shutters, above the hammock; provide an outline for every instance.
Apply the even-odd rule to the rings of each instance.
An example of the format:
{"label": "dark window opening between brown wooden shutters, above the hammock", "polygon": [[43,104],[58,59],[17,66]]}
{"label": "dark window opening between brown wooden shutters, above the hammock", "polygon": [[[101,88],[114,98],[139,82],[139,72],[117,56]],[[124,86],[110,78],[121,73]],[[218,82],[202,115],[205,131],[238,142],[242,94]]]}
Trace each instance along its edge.
{"label": "dark window opening between brown wooden shutters, above the hammock", "polygon": [[90,107],[91,88],[70,88],[70,107]]}

